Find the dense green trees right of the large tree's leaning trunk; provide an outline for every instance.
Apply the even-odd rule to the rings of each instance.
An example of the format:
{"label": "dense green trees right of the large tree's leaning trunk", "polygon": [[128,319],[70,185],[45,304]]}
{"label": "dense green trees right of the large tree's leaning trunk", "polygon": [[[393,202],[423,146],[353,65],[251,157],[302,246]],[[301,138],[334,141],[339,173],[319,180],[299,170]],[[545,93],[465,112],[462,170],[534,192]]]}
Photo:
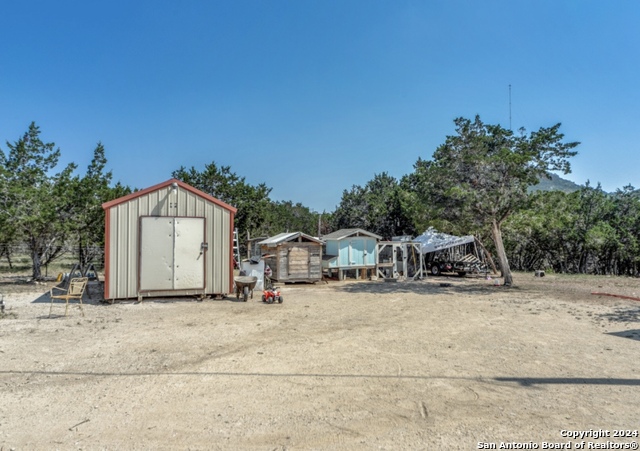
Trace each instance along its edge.
{"label": "dense green trees right of the large tree's leaning trunk", "polygon": [[518,270],[637,276],[640,197],[627,185],[605,193],[535,192],[505,225],[505,246]]}

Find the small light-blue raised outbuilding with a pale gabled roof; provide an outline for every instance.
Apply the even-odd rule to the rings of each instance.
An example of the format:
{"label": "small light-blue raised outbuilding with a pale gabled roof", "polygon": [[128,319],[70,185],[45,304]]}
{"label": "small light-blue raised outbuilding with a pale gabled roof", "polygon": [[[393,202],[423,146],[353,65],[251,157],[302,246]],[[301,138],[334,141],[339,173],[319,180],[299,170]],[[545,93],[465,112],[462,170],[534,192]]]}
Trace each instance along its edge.
{"label": "small light-blue raised outbuilding with a pale gabled roof", "polygon": [[346,271],[355,271],[356,278],[375,276],[376,245],[381,239],[363,229],[341,229],[324,235],[326,251],[322,267],[330,274],[337,272],[339,280]]}

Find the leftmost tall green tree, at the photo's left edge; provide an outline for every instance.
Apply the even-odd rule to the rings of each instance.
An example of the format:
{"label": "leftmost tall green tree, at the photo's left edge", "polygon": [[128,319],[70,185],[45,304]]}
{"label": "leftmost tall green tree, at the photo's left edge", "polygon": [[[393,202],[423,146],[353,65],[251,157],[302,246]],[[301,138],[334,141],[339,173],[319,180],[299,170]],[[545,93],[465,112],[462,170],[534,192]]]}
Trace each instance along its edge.
{"label": "leftmost tall green tree, at the photo's left edge", "polygon": [[73,163],[51,174],[58,165],[60,149],[40,139],[40,128],[28,131],[8,152],[0,150],[0,222],[9,227],[10,239],[26,242],[34,280],[42,278],[41,267],[60,256],[69,234],[68,195]]}

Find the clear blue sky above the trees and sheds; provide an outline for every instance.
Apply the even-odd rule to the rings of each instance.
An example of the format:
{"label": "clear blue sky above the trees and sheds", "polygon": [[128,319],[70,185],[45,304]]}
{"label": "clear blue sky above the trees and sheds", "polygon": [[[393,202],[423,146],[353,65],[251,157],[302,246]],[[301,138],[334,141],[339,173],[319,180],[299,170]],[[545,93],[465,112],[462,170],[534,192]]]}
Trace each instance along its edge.
{"label": "clear blue sky above the trees and sheds", "polygon": [[[230,165],[332,211],[410,173],[453,119],[580,141],[566,178],[640,186],[640,2],[0,2],[0,148],[35,121],[115,180]],[[511,85],[511,109],[509,108]]]}

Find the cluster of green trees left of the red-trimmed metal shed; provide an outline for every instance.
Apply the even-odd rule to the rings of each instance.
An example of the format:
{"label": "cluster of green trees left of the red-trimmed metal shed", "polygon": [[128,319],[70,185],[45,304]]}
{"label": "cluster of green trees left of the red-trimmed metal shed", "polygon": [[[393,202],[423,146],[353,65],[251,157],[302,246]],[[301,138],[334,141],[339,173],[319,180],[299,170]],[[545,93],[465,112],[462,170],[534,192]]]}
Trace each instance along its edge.
{"label": "cluster of green trees left of the red-trimmed metal shed", "polygon": [[61,151],[42,141],[31,123],[25,134],[0,149],[0,255],[12,265],[16,245],[23,245],[32,262],[34,280],[42,267],[61,257],[69,246],[86,265],[104,246],[102,202],[131,189],[116,183],[106,171],[105,149],[98,143],[84,175],[77,165],[60,168]]}

